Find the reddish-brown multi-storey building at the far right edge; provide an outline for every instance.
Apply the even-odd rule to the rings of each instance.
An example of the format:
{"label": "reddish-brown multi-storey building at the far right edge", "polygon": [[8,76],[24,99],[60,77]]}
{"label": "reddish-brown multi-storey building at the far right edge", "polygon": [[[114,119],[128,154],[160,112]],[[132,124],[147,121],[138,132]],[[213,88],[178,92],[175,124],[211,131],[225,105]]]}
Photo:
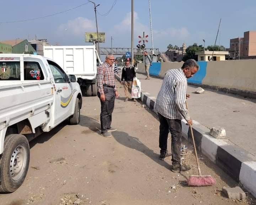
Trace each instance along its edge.
{"label": "reddish-brown multi-storey building at the far right edge", "polygon": [[229,55],[234,60],[256,58],[256,31],[246,31],[243,38],[230,39]]}

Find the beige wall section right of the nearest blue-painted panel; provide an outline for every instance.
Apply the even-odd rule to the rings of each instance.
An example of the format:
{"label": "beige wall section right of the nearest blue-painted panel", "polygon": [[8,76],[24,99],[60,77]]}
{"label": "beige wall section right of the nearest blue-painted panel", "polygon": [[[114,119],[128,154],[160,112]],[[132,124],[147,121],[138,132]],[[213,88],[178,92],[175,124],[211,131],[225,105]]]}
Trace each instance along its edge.
{"label": "beige wall section right of the nearest blue-painted panel", "polygon": [[202,83],[256,92],[256,59],[210,61]]}

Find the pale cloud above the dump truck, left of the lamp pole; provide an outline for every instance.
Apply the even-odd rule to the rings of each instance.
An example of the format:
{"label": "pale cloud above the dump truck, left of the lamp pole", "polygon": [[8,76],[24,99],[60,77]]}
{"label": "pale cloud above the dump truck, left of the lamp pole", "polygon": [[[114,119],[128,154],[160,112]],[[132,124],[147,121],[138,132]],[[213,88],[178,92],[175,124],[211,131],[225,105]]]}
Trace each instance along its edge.
{"label": "pale cloud above the dump truck, left of the lamp pole", "polygon": [[93,32],[96,30],[96,27],[94,21],[88,18],[77,17],[60,25],[58,30],[69,35],[84,36],[85,32]]}

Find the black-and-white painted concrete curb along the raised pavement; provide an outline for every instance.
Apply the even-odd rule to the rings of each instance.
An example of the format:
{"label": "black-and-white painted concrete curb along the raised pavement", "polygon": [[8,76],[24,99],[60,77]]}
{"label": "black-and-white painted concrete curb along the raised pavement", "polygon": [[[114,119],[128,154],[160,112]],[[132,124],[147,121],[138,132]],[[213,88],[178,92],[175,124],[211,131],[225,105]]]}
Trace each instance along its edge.
{"label": "black-and-white painted concrete curb along the raised pavement", "polygon": [[[118,76],[116,78],[121,80]],[[155,96],[141,90],[140,100],[154,112],[155,99]],[[191,141],[191,132],[188,128],[186,120],[182,120],[183,137]],[[256,161],[254,156],[231,142],[215,139],[209,135],[210,129],[197,121],[193,120],[192,129],[197,149],[256,197]]]}

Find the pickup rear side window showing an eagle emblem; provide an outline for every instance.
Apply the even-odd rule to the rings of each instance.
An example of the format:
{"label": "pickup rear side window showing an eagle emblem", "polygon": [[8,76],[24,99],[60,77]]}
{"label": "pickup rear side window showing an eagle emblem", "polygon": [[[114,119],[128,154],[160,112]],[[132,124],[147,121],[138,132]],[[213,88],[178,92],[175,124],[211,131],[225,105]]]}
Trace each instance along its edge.
{"label": "pickup rear side window showing an eagle emblem", "polygon": [[20,61],[1,61],[0,80],[20,80]]}

